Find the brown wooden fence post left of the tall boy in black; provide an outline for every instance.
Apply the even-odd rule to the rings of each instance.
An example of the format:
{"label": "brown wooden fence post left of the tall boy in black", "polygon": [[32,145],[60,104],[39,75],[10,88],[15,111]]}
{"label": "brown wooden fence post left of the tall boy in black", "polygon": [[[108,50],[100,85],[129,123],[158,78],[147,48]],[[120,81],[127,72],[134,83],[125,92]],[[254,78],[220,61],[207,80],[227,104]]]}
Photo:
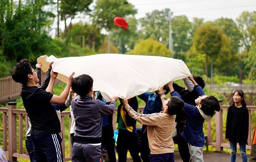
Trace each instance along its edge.
{"label": "brown wooden fence post left of the tall boy in black", "polygon": [[17,157],[13,157],[13,153],[17,152],[17,127],[16,114],[12,113],[12,109],[16,109],[16,102],[8,102],[8,132],[9,132],[9,161],[17,161]]}

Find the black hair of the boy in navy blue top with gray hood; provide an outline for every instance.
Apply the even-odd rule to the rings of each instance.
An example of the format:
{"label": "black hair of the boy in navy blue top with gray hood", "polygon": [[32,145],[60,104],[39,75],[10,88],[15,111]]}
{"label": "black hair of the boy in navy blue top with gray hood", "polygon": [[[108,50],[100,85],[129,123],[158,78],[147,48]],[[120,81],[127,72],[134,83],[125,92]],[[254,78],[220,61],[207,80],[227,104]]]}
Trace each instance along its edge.
{"label": "black hair of the boy in navy blue top with gray hood", "polygon": [[211,117],[215,115],[215,111],[220,111],[221,109],[218,99],[212,95],[203,98],[200,104],[202,106],[201,110],[204,114]]}

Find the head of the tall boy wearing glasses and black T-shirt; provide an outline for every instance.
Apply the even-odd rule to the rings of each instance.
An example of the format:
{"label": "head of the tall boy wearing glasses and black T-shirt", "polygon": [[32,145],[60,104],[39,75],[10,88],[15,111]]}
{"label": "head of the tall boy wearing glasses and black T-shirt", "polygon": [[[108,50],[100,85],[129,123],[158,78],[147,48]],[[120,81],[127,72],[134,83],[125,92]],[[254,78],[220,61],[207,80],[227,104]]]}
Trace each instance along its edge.
{"label": "head of the tall boy wearing glasses and black T-shirt", "polygon": [[28,59],[23,59],[15,64],[12,68],[12,79],[22,85],[32,82],[37,84],[39,82],[37,72],[33,69]]}

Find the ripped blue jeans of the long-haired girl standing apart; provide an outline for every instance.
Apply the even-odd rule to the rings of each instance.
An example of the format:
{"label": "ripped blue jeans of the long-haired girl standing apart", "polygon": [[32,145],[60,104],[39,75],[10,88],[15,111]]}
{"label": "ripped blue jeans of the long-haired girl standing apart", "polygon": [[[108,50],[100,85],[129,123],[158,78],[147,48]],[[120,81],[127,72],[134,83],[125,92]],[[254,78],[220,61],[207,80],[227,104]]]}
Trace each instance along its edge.
{"label": "ripped blue jeans of the long-haired girl standing apart", "polygon": [[[240,155],[243,162],[247,162],[246,143],[239,143]],[[236,143],[230,142],[230,162],[236,162]]]}

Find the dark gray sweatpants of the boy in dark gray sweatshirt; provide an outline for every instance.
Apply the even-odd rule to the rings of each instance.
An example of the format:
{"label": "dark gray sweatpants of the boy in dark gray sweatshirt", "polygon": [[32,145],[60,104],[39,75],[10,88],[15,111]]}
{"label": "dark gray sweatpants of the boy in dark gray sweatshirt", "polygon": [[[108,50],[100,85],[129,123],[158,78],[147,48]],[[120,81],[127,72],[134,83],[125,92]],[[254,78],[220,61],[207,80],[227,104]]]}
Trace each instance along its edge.
{"label": "dark gray sweatpants of the boy in dark gray sweatshirt", "polygon": [[72,162],[103,162],[101,145],[74,142]]}

